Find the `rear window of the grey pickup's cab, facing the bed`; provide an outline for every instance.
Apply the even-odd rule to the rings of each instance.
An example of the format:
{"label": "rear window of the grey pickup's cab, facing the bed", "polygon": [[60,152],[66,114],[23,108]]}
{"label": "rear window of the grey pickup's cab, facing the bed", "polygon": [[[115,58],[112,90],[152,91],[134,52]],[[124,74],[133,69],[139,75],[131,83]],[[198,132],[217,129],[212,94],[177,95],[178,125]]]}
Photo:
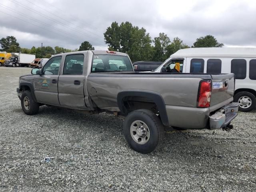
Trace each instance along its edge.
{"label": "rear window of the grey pickup's cab, facing the bed", "polygon": [[92,60],[92,73],[133,71],[127,56],[95,54]]}

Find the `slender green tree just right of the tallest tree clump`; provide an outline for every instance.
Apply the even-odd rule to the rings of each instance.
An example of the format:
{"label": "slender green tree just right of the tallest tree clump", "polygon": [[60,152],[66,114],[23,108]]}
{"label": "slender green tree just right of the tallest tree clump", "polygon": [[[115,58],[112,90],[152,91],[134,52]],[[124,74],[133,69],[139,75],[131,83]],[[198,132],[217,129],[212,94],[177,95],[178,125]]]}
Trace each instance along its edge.
{"label": "slender green tree just right of the tallest tree clump", "polygon": [[156,61],[164,61],[165,54],[167,52],[167,46],[171,42],[170,38],[164,34],[159,33],[158,37],[155,37],[154,40],[154,60]]}

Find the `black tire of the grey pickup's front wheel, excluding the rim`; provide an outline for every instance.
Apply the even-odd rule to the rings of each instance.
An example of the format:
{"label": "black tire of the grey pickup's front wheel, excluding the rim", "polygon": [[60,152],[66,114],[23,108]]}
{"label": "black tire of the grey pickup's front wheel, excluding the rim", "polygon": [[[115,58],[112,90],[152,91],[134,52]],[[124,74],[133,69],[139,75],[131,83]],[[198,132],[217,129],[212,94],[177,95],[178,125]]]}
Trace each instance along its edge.
{"label": "black tire of the grey pickup's front wheel, excluding the rim", "polygon": [[[26,97],[26,99],[28,98],[29,100],[29,107],[26,108],[24,106],[24,98]],[[34,100],[32,94],[30,91],[24,91],[21,95],[21,99],[20,99],[20,102],[21,102],[21,107],[22,107],[22,110],[25,114],[27,115],[34,115],[34,114],[37,114],[38,111],[39,111],[39,104]]]}

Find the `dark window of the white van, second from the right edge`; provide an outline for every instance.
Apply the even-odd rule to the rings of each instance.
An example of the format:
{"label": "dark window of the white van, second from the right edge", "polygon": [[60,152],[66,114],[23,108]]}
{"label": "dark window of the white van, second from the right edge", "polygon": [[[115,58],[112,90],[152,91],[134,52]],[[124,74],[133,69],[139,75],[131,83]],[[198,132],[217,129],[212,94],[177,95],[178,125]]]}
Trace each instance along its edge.
{"label": "dark window of the white van, second from the right edge", "polygon": [[246,60],[232,59],[231,73],[235,74],[236,79],[245,79],[246,78]]}

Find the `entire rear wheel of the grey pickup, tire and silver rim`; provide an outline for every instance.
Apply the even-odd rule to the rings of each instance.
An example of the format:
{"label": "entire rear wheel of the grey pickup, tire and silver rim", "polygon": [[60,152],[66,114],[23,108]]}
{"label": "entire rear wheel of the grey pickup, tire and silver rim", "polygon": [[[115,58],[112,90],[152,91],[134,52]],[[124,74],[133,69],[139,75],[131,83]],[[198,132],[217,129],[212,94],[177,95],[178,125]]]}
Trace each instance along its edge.
{"label": "entire rear wheel of the grey pickup, tire and silver rim", "polygon": [[140,109],[128,114],[124,121],[124,137],[129,146],[140,153],[150,153],[164,139],[164,126],[150,110]]}

